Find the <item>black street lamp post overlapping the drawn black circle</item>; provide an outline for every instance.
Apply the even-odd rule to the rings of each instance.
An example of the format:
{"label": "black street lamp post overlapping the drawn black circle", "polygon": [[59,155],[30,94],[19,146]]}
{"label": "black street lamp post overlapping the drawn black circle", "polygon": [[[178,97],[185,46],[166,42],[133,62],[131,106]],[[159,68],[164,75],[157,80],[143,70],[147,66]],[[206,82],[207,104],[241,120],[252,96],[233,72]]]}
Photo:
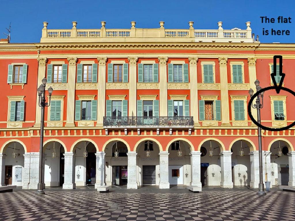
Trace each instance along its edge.
{"label": "black street lamp post overlapping the drawn black circle", "polygon": [[[261,90],[261,87],[259,85],[259,80],[255,80],[255,86],[256,86],[256,91],[258,92]],[[254,91],[252,88],[249,90],[250,97],[252,98]],[[261,123],[260,119],[260,109],[263,108],[263,94],[264,91],[261,92],[260,94],[257,95],[256,98],[256,104],[251,104],[252,108],[257,109],[257,122],[258,124]],[[262,141],[261,141],[261,128],[258,126],[258,145],[259,145],[259,185],[258,185],[258,195],[265,195],[266,192],[264,191],[264,186],[263,186],[263,171],[262,171]]]}

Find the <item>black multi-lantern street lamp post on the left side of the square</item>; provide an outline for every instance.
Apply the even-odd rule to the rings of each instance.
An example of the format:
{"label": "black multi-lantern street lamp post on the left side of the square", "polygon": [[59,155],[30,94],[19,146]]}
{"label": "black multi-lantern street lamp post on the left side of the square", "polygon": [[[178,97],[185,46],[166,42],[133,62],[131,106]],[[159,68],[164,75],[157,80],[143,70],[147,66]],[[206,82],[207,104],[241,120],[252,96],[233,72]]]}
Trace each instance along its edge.
{"label": "black multi-lantern street lamp post on the left side of the square", "polygon": [[39,96],[39,107],[41,107],[41,126],[40,126],[40,152],[39,152],[39,182],[38,182],[38,190],[37,194],[45,194],[43,191],[44,184],[42,183],[43,177],[43,137],[44,137],[44,110],[45,107],[50,106],[51,94],[53,92],[52,87],[48,88],[49,93],[49,103],[46,103],[45,100],[45,87],[46,87],[47,79],[44,77],[42,79],[42,84],[37,89]]}

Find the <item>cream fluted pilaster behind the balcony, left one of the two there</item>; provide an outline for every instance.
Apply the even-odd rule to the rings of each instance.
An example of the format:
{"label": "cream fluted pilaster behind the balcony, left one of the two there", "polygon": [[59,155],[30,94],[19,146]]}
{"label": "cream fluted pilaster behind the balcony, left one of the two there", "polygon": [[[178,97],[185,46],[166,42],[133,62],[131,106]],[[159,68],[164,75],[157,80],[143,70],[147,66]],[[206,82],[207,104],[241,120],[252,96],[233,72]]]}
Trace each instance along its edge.
{"label": "cream fluted pilaster behind the balcony, left one of the two there", "polygon": [[129,61],[129,116],[136,116],[136,62],[137,57],[128,57]]}

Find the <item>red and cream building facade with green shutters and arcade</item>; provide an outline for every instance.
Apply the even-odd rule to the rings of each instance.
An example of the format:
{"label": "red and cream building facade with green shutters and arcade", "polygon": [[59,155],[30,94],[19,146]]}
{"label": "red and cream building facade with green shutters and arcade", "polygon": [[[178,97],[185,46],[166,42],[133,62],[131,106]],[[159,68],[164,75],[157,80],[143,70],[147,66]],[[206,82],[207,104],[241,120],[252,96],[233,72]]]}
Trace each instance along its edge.
{"label": "red and cream building facade with green shutters and arcade", "polygon": [[[224,30],[222,22],[216,30],[135,24],[77,29],[73,22],[58,30],[43,22],[40,43],[0,42],[1,185],[37,189],[37,88],[45,77],[54,89],[45,108],[45,187],[258,188],[248,91],[256,79],[272,85],[274,55],[283,56],[283,87],[292,88],[295,44],[260,43],[250,22],[244,30]],[[262,124],[291,124],[294,101],[286,91],[265,92]],[[294,143],[294,128],[263,131],[263,178],[271,186],[295,186]]]}

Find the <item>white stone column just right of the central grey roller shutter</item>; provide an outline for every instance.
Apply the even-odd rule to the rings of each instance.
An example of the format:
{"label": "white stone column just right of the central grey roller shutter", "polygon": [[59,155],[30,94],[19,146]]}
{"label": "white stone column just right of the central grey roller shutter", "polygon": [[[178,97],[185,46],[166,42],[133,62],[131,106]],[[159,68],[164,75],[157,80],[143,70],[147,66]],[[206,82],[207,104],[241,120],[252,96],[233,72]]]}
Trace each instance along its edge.
{"label": "white stone column just right of the central grey roller shutter", "polygon": [[169,153],[168,151],[160,151],[160,183],[159,189],[169,189]]}

